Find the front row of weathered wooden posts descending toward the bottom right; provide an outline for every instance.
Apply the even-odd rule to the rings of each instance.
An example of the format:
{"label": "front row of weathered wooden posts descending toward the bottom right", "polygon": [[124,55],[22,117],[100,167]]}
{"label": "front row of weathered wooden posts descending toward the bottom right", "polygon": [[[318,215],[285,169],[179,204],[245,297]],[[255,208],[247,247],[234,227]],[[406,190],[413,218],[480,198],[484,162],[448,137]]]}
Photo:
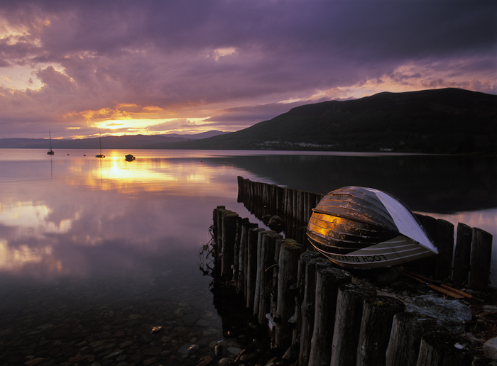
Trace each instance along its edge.
{"label": "front row of weathered wooden posts descending toward the bottom right", "polygon": [[[218,206],[219,281],[236,286],[273,348],[295,365],[469,366],[474,350],[437,321],[354,281],[320,254]],[[441,342],[440,340],[443,339]]]}

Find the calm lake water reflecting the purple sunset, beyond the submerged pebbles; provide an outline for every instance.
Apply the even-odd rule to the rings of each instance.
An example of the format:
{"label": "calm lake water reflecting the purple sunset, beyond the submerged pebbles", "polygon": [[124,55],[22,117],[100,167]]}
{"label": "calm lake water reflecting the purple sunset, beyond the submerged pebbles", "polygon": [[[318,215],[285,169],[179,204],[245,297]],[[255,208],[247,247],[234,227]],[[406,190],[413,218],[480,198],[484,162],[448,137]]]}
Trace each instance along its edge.
{"label": "calm lake water reflecting the purple sunset, beyond the submerged pebbles", "polygon": [[[186,309],[200,300],[202,306],[195,309],[209,320],[209,329],[221,329],[197,253],[209,241],[218,205],[263,226],[236,201],[239,175],[318,193],[347,185],[374,187],[413,211],[482,228],[494,238],[492,279],[497,283],[496,158],[104,153],[107,157],[98,159],[93,150],[56,150],[50,156],[45,150],[0,149],[0,327],[16,331],[16,319],[6,318],[15,311],[31,314],[23,326],[35,329],[52,324],[58,312],[82,305],[105,314],[109,309],[133,313],[140,302],[153,309],[170,304],[168,311],[175,311],[174,306]],[[127,153],[136,160],[126,162]]]}

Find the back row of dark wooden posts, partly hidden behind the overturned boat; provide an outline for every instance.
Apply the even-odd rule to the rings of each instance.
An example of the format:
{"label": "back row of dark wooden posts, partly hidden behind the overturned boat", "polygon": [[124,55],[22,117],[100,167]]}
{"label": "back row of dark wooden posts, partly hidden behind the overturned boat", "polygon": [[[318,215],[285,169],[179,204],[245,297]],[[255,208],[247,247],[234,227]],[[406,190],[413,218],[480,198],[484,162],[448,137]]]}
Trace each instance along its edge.
{"label": "back row of dark wooden posts, partly hidden behind the overturned boat", "polygon": [[[238,177],[239,201],[261,218],[279,215],[287,223],[285,237],[305,243],[305,228],[323,194],[279,187],[275,184],[253,182]],[[490,282],[492,235],[464,223],[454,225],[443,219],[415,214],[439,250],[434,257],[407,265],[409,270],[433,279],[450,280],[455,287],[467,285],[485,292]]]}

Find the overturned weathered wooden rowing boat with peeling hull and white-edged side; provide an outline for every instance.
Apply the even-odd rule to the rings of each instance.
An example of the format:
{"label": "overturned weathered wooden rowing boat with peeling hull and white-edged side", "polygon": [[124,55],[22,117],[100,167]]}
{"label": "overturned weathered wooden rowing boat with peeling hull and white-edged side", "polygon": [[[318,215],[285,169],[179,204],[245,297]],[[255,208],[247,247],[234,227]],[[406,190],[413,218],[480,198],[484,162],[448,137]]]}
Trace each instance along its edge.
{"label": "overturned weathered wooden rowing boat with peeling hull and white-edged side", "polygon": [[312,211],[307,237],[337,265],[391,267],[438,254],[410,209],[386,192],[344,187]]}

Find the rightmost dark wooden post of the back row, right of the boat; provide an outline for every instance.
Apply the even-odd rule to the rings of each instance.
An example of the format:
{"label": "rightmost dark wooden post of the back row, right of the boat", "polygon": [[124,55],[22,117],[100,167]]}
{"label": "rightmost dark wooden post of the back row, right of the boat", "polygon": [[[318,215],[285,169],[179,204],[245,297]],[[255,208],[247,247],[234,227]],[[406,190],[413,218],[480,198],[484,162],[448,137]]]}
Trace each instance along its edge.
{"label": "rightmost dark wooden post of the back row, right of the boat", "polygon": [[471,269],[469,287],[477,291],[488,290],[492,257],[492,235],[481,228],[473,228],[471,240]]}

